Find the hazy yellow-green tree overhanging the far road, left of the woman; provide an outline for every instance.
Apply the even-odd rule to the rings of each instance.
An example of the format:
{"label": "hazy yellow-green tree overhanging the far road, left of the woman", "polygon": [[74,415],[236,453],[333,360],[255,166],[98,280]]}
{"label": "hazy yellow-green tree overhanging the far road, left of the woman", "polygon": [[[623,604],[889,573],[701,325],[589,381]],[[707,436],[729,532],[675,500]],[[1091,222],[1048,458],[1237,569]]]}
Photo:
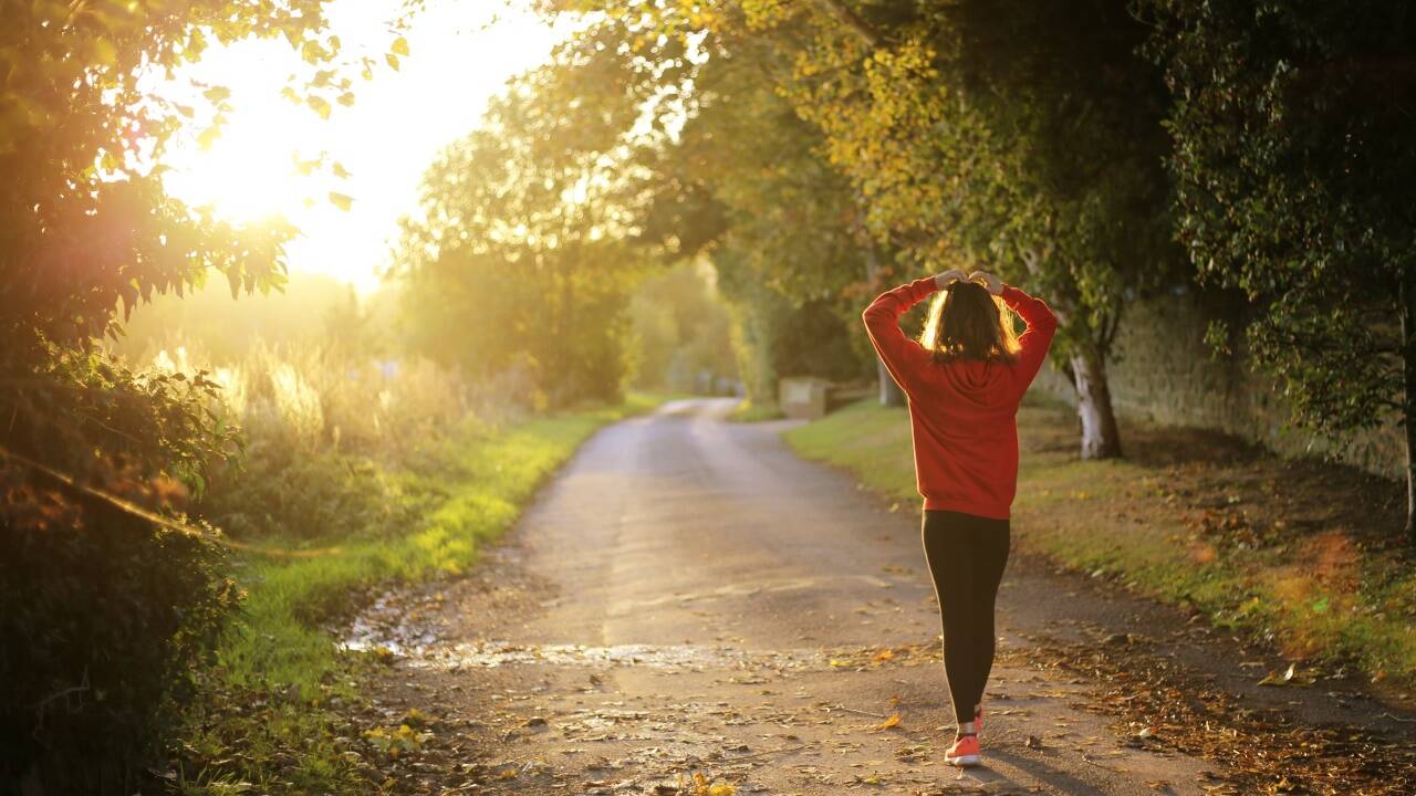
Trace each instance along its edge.
{"label": "hazy yellow-green tree overhanging the far road, left of the woman", "polygon": [[[735,309],[739,370],[749,397],[775,401],[777,358],[793,344],[779,336],[800,320],[794,314],[814,314],[821,302],[840,320],[833,339],[794,344],[823,343],[840,358],[847,348],[834,341],[850,340],[851,360],[833,360],[827,371],[865,375],[862,365],[875,356],[857,333],[858,305],[888,278],[889,252],[868,234],[858,191],[826,161],[820,129],[780,95],[792,75],[783,42],[750,31],[735,7],[589,0],[545,0],[541,7],[547,13],[603,11],[586,33],[603,45],[595,58],[627,54],[657,64],[634,69],[627,62],[622,69],[627,79],[664,86],[660,71],[666,68],[691,76],[671,88],[678,105],[654,112],[680,133],[657,150],[646,234],[678,242],[667,249],[671,255],[702,251],[711,256]],[[691,69],[680,71],[674,61],[685,48]],[[901,404],[903,395],[884,367],[877,378],[882,398]]]}

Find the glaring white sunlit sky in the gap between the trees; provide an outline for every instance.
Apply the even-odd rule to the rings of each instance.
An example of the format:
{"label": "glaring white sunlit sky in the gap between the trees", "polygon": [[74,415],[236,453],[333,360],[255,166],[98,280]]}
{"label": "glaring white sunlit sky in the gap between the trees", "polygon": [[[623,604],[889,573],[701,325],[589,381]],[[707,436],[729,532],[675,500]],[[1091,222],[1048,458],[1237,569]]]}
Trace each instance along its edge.
{"label": "glaring white sunlit sky in the gap between the trees", "polygon": [[[476,129],[487,99],[507,78],[547,59],[565,28],[552,30],[503,0],[428,0],[404,35],[409,54],[394,71],[384,59],[396,34],[399,0],[336,0],[327,8],[341,55],[367,52],[372,81],[355,74],[355,102],[330,118],[280,96],[286,76],[309,67],[283,41],[212,47],[156,93],[190,96],[191,81],[231,89],[232,113],[210,149],[191,130],[163,159],[173,195],[211,204],[234,221],[283,214],[302,229],[287,246],[292,271],[327,273],[360,293],[378,286],[396,242],[399,217],[418,204],[423,171],[443,146]],[[350,176],[302,176],[295,159],[321,152]],[[354,198],[350,210],[330,191]],[[307,198],[314,198],[313,204]]]}

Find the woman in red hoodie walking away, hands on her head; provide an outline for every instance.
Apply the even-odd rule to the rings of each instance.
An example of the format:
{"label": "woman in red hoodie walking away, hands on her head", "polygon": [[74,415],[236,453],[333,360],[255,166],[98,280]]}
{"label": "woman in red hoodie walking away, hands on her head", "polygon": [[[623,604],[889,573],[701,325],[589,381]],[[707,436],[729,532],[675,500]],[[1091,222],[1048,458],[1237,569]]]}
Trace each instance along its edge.
{"label": "woman in red hoodie walking away, hands on her head", "polygon": [[[942,292],[922,344],[899,316]],[[997,299],[995,299],[997,297]],[[1012,316],[1028,324],[1014,339]],[[944,627],[944,673],[959,734],[944,762],[978,765],[983,690],[993,669],[994,599],[1008,562],[1018,490],[1018,402],[1042,367],[1056,316],[1039,299],[976,271],[946,271],[882,293],[865,329],[909,397],[915,480],[925,497],[925,559]]]}

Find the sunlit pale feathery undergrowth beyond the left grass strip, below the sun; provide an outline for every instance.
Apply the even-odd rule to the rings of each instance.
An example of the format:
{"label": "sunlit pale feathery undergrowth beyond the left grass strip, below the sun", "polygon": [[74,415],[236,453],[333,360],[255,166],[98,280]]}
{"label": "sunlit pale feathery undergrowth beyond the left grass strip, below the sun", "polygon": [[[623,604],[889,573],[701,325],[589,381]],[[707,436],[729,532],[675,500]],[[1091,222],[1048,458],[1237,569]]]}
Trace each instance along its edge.
{"label": "sunlit pale feathery undergrowth beyond the left grass strip, below the sun", "polygon": [[[187,348],[153,367],[195,373]],[[486,395],[426,360],[355,357],[337,347],[263,343],[217,370],[218,411],[242,428],[245,455],[215,467],[200,508],[239,538],[387,537],[418,516],[391,476],[423,462]]]}

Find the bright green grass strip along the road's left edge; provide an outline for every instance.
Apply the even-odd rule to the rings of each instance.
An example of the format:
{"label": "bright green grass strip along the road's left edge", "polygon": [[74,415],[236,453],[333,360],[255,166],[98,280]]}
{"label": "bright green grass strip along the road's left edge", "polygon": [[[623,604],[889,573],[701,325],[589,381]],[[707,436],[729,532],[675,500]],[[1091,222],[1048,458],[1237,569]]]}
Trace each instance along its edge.
{"label": "bright green grass strip along the road's left edge", "polygon": [[[346,615],[351,596],[388,582],[455,575],[483,542],[506,533],[537,489],[606,423],[651,409],[663,398],[632,394],[624,405],[530,419],[446,440],[426,472],[398,473],[426,504],[415,531],[389,538],[320,540],[289,555],[286,540],[245,552],[234,576],[246,591],[241,616],[204,673],[202,698],[178,755],[183,790],[354,792],[346,756],[357,737],[337,704],[361,700],[360,681],[378,656],[341,652],[323,626]],[[412,497],[411,497],[412,499]],[[248,707],[256,705],[256,707]],[[221,761],[219,763],[217,761]]]}

